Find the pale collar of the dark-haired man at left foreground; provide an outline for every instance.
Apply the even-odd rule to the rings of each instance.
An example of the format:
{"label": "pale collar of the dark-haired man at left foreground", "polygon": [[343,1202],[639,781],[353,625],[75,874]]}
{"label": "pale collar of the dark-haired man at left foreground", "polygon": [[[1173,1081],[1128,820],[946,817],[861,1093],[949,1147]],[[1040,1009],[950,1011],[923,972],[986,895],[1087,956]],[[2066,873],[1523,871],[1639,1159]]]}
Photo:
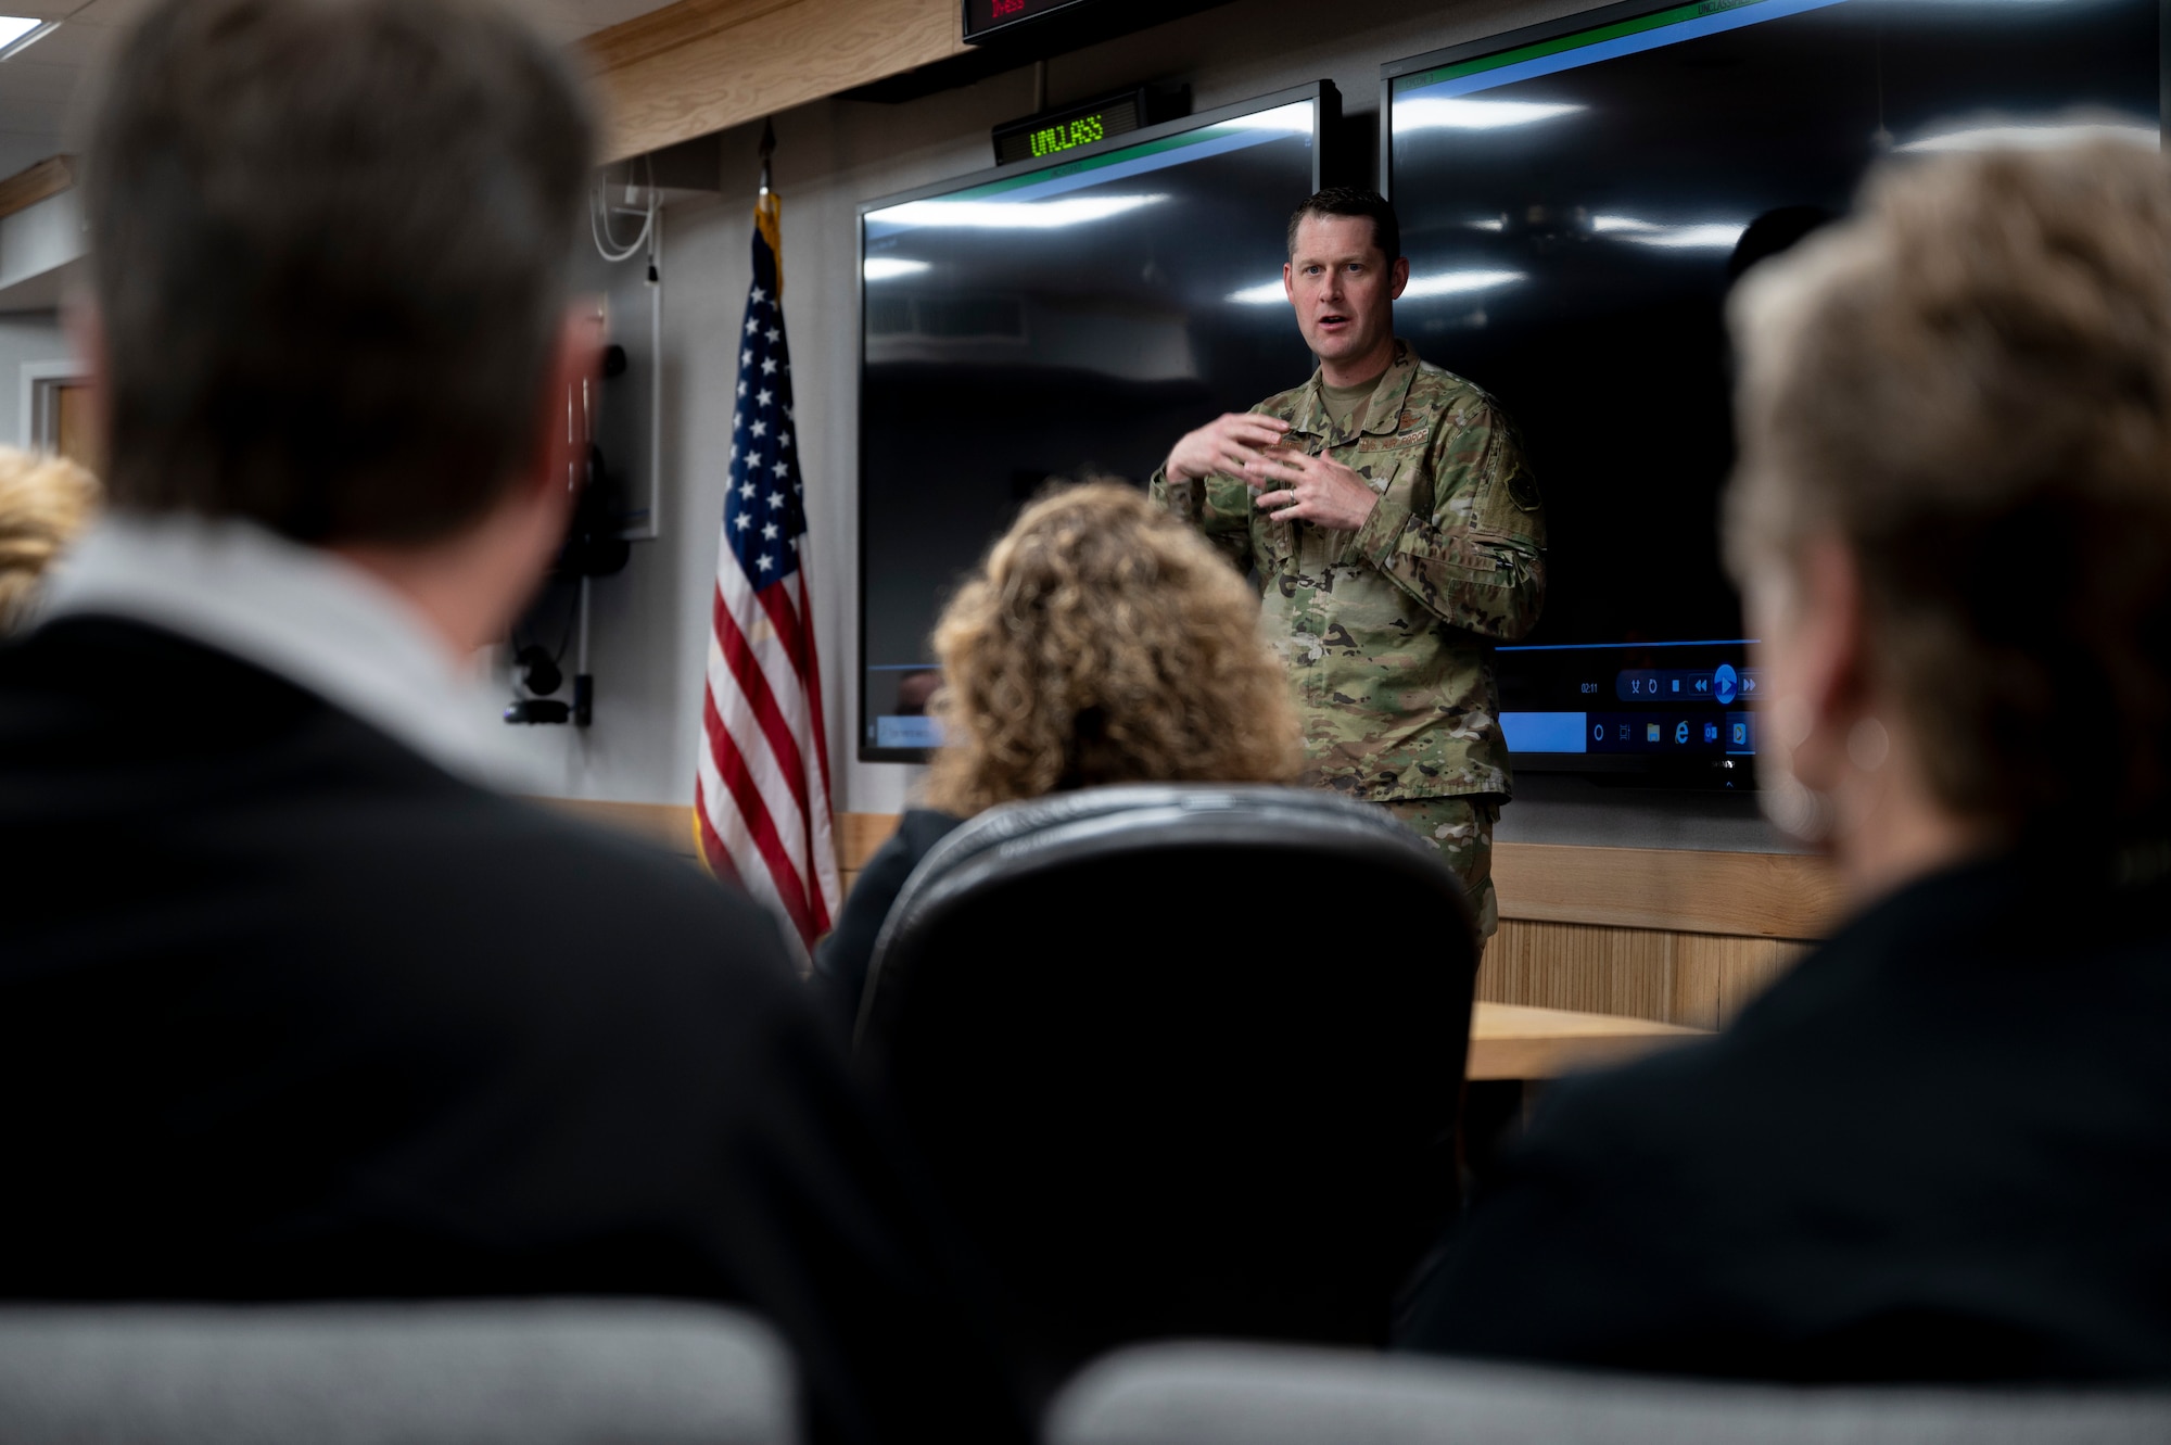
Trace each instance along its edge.
{"label": "pale collar of the dark-haired man at left foreground", "polygon": [[39,623],[124,616],[315,692],[436,766],[488,788],[528,781],[480,668],[406,597],[319,547],[239,519],[98,521],[54,568]]}

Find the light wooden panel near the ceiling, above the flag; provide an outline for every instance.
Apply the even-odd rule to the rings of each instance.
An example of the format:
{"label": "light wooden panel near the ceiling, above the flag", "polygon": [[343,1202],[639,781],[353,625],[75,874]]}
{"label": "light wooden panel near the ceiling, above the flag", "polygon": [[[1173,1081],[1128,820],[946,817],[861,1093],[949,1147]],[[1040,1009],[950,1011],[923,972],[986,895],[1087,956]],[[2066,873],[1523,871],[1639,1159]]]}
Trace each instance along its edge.
{"label": "light wooden panel near the ceiling, above the flag", "polygon": [[604,158],[690,141],[960,54],[957,0],[677,0],[584,41]]}

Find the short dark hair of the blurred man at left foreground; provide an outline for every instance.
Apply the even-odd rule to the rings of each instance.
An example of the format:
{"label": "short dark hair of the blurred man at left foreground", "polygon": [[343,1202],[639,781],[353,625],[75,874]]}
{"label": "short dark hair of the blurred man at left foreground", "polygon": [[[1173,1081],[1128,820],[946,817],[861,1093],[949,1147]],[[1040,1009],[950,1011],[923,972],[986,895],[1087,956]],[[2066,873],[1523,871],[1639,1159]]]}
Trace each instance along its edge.
{"label": "short dark hair of the blurred man at left foreground", "polygon": [[593,130],[486,0],[158,0],[85,206],[115,506],[306,542],[480,519],[541,436]]}

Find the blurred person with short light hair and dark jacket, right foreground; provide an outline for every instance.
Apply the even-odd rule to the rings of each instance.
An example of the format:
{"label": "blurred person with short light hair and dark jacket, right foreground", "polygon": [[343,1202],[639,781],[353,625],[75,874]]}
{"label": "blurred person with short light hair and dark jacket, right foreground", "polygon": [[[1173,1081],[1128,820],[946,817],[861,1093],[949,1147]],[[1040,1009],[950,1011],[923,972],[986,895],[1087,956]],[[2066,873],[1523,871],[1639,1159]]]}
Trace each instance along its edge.
{"label": "blurred person with short light hair and dark jacket, right foreground", "polygon": [[1880,169],[1732,302],[1772,816],[1852,918],[1550,1091],[1405,1343],[1778,1380],[2171,1378],[2171,174]]}

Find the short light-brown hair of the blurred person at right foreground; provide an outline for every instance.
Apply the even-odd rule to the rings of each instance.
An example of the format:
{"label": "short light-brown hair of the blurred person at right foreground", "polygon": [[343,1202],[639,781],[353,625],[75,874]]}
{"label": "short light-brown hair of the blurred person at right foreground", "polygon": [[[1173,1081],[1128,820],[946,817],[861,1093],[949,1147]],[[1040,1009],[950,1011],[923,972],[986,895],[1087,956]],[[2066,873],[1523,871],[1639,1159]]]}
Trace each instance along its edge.
{"label": "short light-brown hair of the blurred person at right foreground", "polygon": [[1954,814],[2171,803],[2171,176],[2154,150],[1939,156],[1748,276],[1737,577],[1839,536],[1871,666]]}

